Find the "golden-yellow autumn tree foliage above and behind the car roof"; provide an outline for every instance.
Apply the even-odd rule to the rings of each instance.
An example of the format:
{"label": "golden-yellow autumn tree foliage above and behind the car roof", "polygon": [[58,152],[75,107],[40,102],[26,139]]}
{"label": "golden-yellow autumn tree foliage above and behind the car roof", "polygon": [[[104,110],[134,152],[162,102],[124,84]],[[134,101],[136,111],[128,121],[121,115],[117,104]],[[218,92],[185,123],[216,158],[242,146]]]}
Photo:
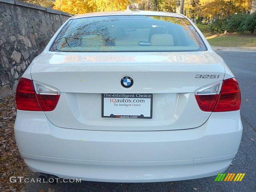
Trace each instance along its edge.
{"label": "golden-yellow autumn tree foliage above and behind the car roof", "polygon": [[[137,3],[140,10],[176,12],[178,0],[22,0],[54,8],[70,14],[98,11],[125,10],[127,5]],[[183,14],[193,21],[210,22],[233,14],[245,14],[252,8],[252,0],[185,0]]]}

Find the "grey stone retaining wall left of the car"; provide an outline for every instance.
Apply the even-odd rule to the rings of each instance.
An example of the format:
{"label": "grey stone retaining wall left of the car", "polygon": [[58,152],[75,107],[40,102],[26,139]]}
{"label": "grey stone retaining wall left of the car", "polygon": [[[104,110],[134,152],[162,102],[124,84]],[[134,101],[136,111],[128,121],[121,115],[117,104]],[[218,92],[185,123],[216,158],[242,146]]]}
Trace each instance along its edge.
{"label": "grey stone retaining wall left of the car", "polygon": [[14,94],[27,66],[70,16],[18,0],[0,0],[0,99]]}

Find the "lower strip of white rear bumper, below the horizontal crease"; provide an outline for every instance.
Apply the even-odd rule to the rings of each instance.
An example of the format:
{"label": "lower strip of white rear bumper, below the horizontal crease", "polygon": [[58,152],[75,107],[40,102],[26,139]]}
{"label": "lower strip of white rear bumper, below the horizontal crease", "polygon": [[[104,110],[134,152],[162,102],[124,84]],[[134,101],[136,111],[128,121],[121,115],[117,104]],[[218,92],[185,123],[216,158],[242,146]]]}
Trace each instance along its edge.
{"label": "lower strip of white rear bumper, below the horizontal crease", "polygon": [[177,161],[91,161],[36,156],[21,152],[33,172],[43,172],[60,178],[81,178],[101,182],[163,182],[195,179],[217,175],[230,165],[235,154]]}

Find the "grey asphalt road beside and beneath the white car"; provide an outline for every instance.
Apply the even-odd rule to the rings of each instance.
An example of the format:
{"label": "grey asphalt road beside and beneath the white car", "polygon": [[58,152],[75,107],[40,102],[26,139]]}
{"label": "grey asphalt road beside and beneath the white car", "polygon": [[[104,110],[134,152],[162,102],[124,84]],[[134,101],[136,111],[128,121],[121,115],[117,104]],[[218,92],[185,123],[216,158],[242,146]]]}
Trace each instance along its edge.
{"label": "grey asphalt road beside and beneath the white car", "polygon": [[[228,64],[242,92],[243,135],[238,154],[227,172],[246,173],[242,182],[214,182],[215,176],[158,183],[27,183],[26,192],[255,192],[256,191],[256,52],[217,52]],[[49,189],[50,188],[50,189]]]}

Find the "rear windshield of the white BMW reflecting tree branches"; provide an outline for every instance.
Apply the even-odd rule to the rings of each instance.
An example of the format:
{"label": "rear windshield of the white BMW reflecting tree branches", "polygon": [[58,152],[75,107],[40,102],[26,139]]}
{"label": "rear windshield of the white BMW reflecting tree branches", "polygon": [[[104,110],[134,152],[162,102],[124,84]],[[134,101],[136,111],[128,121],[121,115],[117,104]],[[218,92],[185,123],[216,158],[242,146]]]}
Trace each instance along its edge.
{"label": "rear windshield of the white BMW reflecting tree branches", "polygon": [[98,16],[70,20],[55,39],[55,52],[184,52],[206,47],[185,18]]}

